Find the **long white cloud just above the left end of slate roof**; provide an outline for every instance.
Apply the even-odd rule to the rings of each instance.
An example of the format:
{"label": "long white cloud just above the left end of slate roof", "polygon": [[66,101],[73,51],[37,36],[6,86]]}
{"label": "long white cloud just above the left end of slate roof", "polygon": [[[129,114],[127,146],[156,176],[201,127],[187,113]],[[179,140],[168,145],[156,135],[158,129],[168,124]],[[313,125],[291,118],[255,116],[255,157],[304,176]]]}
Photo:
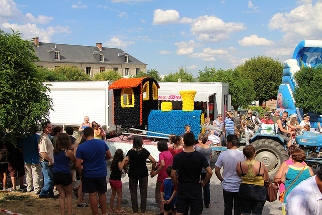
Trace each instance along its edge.
{"label": "long white cloud just above the left end of slate roof", "polygon": [[51,38],[50,36],[55,34],[61,34],[66,33],[69,34],[71,31],[69,30],[69,27],[62,27],[62,26],[49,26],[46,29],[38,28],[36,24],[24,24],[24,25],[18,25],[18,24],[9,24],[4,23],[2,25],[3,28],[12,28],[15,31],[21,32],[23,35],[21,35],[23,38],[33,38],[33,37],[39,37],[41,42],[50,42]]}

